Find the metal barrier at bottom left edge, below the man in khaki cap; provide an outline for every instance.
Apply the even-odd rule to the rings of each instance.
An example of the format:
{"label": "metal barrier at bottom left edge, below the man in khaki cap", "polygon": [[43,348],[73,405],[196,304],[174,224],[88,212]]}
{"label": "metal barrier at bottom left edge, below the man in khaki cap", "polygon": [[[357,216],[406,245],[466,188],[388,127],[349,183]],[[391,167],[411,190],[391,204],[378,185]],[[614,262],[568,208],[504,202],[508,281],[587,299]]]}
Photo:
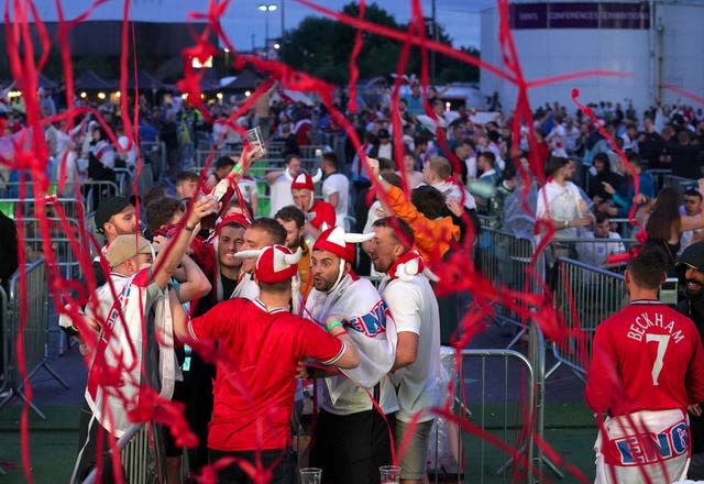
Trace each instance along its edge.
{"label": "metal barrier at bottom left edge, below the man in khaki cap", "polygon": [[[123,482],[147,484],[165,481],[164,454],[152,439],[157,433],[155,428],[154,425],[134,424],[118,439],[116,446],[120,450]],[[94,484],[97,479],[98,470],[94,469],[82,484]]]}

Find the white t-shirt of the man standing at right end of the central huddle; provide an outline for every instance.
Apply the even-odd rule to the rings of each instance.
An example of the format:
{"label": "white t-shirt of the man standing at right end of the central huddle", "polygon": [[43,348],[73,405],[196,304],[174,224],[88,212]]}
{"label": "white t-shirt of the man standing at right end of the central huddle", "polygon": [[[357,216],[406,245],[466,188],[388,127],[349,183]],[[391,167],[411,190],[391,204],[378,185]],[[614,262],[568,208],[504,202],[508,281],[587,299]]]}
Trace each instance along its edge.
{"label": "white t-shirt of the man standing at right end of the central huddle", "polygon": [[[409,422],[418,411],[440,405],[443,382],[438,300],[422,275],[415,276],[410,282],[385,277],[380,285],[380,293],[396,321],[396,332],[418,334],[416,361],[392,375],[392,381],[398,387],[399,410],[396,418]],[[420,421],[433,418],[432,415],[424,415]]]}

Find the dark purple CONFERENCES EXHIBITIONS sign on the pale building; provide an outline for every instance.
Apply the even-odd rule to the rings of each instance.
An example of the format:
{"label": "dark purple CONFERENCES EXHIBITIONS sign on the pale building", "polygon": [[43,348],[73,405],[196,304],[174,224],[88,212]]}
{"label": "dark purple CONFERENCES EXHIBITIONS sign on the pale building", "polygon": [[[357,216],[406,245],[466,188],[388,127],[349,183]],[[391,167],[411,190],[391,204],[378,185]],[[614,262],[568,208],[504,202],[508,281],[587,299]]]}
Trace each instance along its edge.
{"label": "dark purple CONFERENCES EXHIBITIONS sign on the pale building", "polygon": [[525,29],[650,29],[647,2],[513,3],[510,28]]}

